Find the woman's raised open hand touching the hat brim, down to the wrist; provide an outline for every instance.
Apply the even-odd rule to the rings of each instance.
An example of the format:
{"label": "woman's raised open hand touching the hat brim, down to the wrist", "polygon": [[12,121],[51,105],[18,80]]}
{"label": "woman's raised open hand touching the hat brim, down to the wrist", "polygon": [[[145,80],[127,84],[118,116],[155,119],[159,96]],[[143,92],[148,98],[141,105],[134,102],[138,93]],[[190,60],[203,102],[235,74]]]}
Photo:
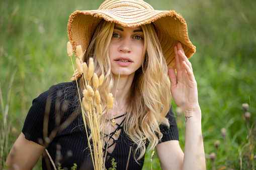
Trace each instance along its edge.
{"label": "woman's raised open hand touching the hat brim, down to the wrist", "polygon": [[[182,44],[174,47],[177,75],[173,68],[168,69],[170,78],[170,92],[184,114],[200,108],[198,104],[197,82],[193,74],[192,65],[186,57]],[[185,115],[186,116],[186,115]]]}

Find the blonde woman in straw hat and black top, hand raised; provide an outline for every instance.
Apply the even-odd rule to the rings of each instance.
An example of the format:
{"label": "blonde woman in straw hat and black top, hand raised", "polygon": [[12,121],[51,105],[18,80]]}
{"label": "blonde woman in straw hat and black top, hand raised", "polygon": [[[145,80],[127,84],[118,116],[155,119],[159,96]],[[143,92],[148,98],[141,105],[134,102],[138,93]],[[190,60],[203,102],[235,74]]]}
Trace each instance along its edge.
{"label": "blonde woman in straw hat and black top, hand raised", "polygon": [[[74,12],[68,36],[74,52],[81,45],[82,60],[89,63],[92,57],[95,73],[105,75],[99,91],[107,169],[113,166],[113,158],[116,169],[125,169],[127,163],[128,169],[141,169],[149,144],[149,150],[156,147],[162,169],[205,169],[197,83],[188,60],[195,47],[181,16],[153,10],[142,0],[107,0],[99,10]],[[50,158],[68,169],[73,163],[78,169],[93,168],[86,136],[90,130],[83,128],[80,114],[84,80],[77,71],[71,80],[74,82],[54,85],[33,100],[8,156],[10,169],[31,169],[41,154],[43,169],[53,168]],[[115,96],[110,110],[109,92]],[[179,145],[170,94],[185,115],[185,154]]]}

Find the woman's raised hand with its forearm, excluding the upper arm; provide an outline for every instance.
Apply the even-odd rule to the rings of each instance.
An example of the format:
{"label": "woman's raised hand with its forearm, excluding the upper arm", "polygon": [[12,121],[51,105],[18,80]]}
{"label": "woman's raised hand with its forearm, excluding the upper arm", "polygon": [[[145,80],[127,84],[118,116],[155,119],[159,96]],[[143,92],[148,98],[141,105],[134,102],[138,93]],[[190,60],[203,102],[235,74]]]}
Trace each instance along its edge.
{"label": "woman's raised hand with its forearm, excluding the upper arm", "polygon": [[180,42],[174,47],[174,54],[177,75],[173,68],[168,70],[168,74],[170,92],[185,115],[186,141],[182,166],[183,169],[206,169],[197,82]]}

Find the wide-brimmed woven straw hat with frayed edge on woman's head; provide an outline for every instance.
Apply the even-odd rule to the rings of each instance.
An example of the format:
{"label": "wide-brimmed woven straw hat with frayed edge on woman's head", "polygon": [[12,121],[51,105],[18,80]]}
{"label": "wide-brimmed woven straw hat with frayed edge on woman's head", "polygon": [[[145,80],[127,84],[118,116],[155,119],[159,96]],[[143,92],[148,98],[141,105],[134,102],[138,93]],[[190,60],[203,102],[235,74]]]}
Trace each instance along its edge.
{"label": "wide-brimmed woven straw hat with frayed edge on woman's head", "polygon": [[[142,0],[106,0],[98,10],[75,11],[70,15],[67,30],[74,53],[77,45],[81,45],[82,51],[88,48],[102,20],[132,28],[153,23],[168,68],[176,67],[174,46],[178,42],[183,44],[188,58],[196,52],[196,47],[189,40],[185,20],[175,11],[154,10]],[[74,76],[78,78],[80,74],[76,71],[73,81]]]}

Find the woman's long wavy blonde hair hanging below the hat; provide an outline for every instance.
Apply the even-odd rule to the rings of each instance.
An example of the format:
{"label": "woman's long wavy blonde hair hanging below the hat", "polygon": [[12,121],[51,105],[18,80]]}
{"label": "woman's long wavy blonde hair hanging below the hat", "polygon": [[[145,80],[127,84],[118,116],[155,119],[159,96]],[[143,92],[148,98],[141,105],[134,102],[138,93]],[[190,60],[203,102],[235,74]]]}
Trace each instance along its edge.
{"label": "woman's long wavy blonde hair hanging below the hat", "polygon": [[[107,95],[114,83],[109,59],[109,44],[114,25],[103,20],[83,56],[85,62],[93,57],[95,73],[98,76],[105,75],[104,84],[99,89],[103,113],[108,111]],[[141,28],[144,33],[144,57],[142,66],[135,72],[127,103],[128,113],[124,122],[125,133],[135,143],[135,160],[144,156],[146,143],[150,143],[149,151],[158,144],[162,138],[159,125],[169,126],[165,116],[170,108],[170,82],[160,43],[153,24],[142,25]],[[83,87],[82,79],[79,81],[80,87]],[[100,129],[103,132],[105,116],[101,116],[101,122]]]}

